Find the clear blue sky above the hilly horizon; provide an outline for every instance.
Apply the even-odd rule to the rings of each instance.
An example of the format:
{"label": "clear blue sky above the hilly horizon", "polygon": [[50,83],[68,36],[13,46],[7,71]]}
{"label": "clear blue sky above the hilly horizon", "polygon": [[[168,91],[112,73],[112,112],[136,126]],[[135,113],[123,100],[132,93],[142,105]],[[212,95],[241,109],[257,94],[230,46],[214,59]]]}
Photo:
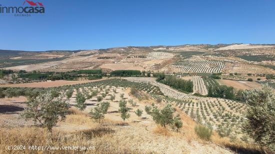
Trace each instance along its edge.
{"label": "clear blue sky above the hilly horizon", "polygon": [[32,1],[44,4],[44,15],[0,15],[0,49],[275,43],[275,0]]}

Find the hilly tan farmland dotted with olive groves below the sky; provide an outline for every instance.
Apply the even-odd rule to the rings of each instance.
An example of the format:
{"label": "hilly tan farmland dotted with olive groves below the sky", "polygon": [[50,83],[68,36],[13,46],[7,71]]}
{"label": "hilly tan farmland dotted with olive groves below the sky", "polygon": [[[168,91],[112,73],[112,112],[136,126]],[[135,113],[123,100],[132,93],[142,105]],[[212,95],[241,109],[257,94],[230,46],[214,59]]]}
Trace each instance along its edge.
{"label": "hilly tan farmland dotted with olive groves below the sky", "polygon": [[[61,114],[50,128],[58,146],[95,145],[94,153],[262,152],[243,132],[249,110],[244,92],[260,90],[263,83],[274,88],[274,51],[272,45],[200,44],[5,55],[0,153],[6,144],[34,145],[39,139],[47,145],[51,125],[19,116],[47,97],[52,98],[39,102],[45,110],[50,103],[43,102],[52,100],[56,104],[50,109],[68,110],[63,121],[62,111],[55,112]],[[170,114],[165,123],[162,114]],[[211,131],[210,140],[200,138],[197,127]]]}

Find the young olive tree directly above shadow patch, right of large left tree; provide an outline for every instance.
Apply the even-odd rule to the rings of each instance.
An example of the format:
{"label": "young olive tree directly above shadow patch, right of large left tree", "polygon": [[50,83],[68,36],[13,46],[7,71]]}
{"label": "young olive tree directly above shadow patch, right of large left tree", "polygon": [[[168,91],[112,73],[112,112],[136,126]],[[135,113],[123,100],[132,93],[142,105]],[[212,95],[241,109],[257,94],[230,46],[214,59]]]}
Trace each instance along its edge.
{"label": "young olive tree directly above shadow patch, right of large left tree", "polygon": [[104,115],[110,106],[109,102],[100,102],[97,106],[90,110],[90,118],[100,124],[100,121],[104,119]]}

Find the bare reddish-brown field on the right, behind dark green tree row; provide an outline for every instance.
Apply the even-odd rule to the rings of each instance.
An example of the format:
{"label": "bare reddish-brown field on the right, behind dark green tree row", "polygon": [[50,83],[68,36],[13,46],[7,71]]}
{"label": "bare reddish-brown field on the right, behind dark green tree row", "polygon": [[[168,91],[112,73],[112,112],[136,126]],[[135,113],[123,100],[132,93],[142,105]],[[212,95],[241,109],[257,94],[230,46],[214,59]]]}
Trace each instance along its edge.
{"label": "bare reddish-brown field on the right, behind dark green tree row", "polygon": [[249,90],[252,88],[260,88],[260,84],[256,82],[249,82],[249,81],[235,81],[235,80],[217,80],[219,84],[226,85],[226,86],[232,86],[237,89],[245,89]]}

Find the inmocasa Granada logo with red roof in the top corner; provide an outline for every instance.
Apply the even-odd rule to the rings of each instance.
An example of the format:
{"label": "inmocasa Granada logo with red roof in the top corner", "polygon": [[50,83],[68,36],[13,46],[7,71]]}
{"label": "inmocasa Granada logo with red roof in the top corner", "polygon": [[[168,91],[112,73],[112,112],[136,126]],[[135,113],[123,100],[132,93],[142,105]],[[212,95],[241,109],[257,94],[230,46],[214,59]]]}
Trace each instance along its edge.
{"label": "inmocasa Granada logo with red roof in the top corner", "polygon": [[[29,6],[26,6],[29,5]],[[44,5],[41,2],[33,2],[30,0],[24,0],[23,6],[2,6],[0,4],[0,13],[11,14],[14,16],[30,16],[33,13],[45,13]]]}

